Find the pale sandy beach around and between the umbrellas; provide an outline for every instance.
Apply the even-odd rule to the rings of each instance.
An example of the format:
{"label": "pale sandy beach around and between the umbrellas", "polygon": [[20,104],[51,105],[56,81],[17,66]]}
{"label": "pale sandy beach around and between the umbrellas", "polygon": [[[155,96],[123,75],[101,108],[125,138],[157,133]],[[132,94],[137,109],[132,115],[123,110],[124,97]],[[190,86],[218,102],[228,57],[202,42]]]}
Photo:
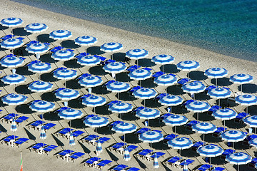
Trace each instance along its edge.
{"label": "pale sandy beach around and between the umbrellas", "polygon": [[[14,35],[24,37],[24,42],[33,41],[36,38],[36,35],[38,36],[39,41],[41,42],[48,42],[51,43],[50,47],[59,46],[60,41],[54,41],[53,39],[49,38],[49,33],[54,30],[58,29],[68,29],[72,32],[72,37],[69,38],[68,41],[64,41],[62,43],[62,46],[65,48],[73,48],[74,52],[76,54],[85,52],[86,48],[85,46],[76,46],[74,44],[74,39],[78,36],[94,36],[98,38],[98,42],[90,47],[88,49],[89,53],[94,53],[97,55],[104,56],[106,58],[110,58],[111,53],[103,53],[99,51],[100,46],[107,42],[119,42],[122,43],[124,48],[119,51],[119,53],[114,53],[114,60],[116,61],[124,61],[124,53],[126,51],[129,51],[133,48],[144,48],[149,52],[149,56],[146,59],[143,59],[139,61],[140,66],[146,66],[149,68],[152,68],[153,72],[160,71],[161,66],[155,65],[151,62],[151,58],[153,56],[156,56],[158,54],[170,54],[171,56],[175,57],[175,62],[171,65],[166,65],[164,67],[164,71],[166,73],[176,73],[178,78],[184,78],[186,77],[186,72],[183,71],[177,71],[176,64],[179,61],[186,61],[186,60],[195,60],[198,61],[201,65],[201,67],[198,69],[198,71],[191,72],[191,78],[203,81],[203,83],[208,86],[213,83],[215,83],[211,78],[206,78],[206,76],[203,75],[203,72],[211,67],[221,67],[226,68],[228,70],[228,76],[226,78],[222,78],[218,81],[218,85],[226,86],[228,88],[231,88],[233,92],[238,92],[238,85],[232,84],[229,82],[229,76],[232,76],[236,73],[248,73],[251,76],[253,76],[253,79],[257,78],[257,63],[251,62],[251,61],[245,61],[238,58],[232,58],[230,56],[223,56],[218,53],[213,53],[211,51],[206,51],[201,48],[191,47],[191,46],[185,46],[183,44],[179,43],[173,43],[171,41],[166,41],[161,38],[154,38],[149,36],[144,36],[138,33],[132,33],[129,31],[124,31],[119,28],[112,28],[110,26],[104,26],[101,24],[96,24],[91,21],[84,21],[81,19],[76,19],[70,16],[64,16],[62,14],[56,14],[51,11],[46,11],[43,9],[36,9],[31,6],[26,6],[24,4],[19,4],[13,1],[7,1],[3,0],[1,1],[0,6],[0,14],[1,19],[7,18],[7,17],[19,17],[23,19],[24,23],[19,26],[18,28],[14,28]],[[49,26],[49,29],[43,33],[39,34],[31,34],[24,31],[24,26],[27,24],[40,22],[44,23],[47,26]],[[2,28],[1,28],[2,29]],[[0,37],[9,34],[11,32],[10,28],[4,29],[3,31],[0,31]],[[9,53],[8,50],[5,50],[4,48],[1,48],[0,56],[6,56],[6,53]],[[30,55],[30,56],[29,56]],[[52,59],[51,54],[46,53],[41,56],[41,61],[51,63],[52,69],[59,68],[61,66],[65,66],[67,68],[72,68],[78,71],[78,76],[80,76],[82,73],[91,73],[94,75],[100,75],[104,82],[111,80],[111,76],[109,73],[104,72],[104,70],[101,69],[100,66],[79,66],[79,64],[76,63],[75,60],[71,61],[54,61]],[[24,57],[26,58],[25,63],[29,63],[30,61],[36,60],[35,56],[25,53],[24,51]],[[131,65],[135,61],[131,62]],[[90,69],[89,69],[90,68]],[[11,74],[10,68],[4,68],[1,67],[1,77],[6,76],[8,74]],[[69,121],[67,120],[61,120],[55,113],[46,113],[44,115],[46,123],[55,123],[56,127],[51,128],[46,132],[47,138],[46,140],[40,140],[39,139],[39,131],[34,129],[29,129],[28,126],[29,123],[32,123],[34,120],[39,120],[39,113],[35,113],[29,109],[29,103],[33,100],[42,99],[42,100],[49,100],[56,104],[56,109],[64,106],[64,101],[56,99],[52,93],[31,93],[30,90],[27,89],[27,85],[33,81],[36,81],[39,77],[38,74],[31,73],[27,70],[26,64],[24,66],[21,66],[17,68],[16,73],[19,73],[21,75],[24,75],[27,77],[27,80],[25,83],[22,83],[19,86],[6,86],[3,83],[1,83],[0,90],[1,96],[4,96],[9,93],[21,93],[26,96],[28,96],[28,100],[26,104],[19,105],[19,106],[8,106],[4,105],[2,102],[0,102],[1,108],[3,111],[1,111],[1,117],[9,113],[17,113],[19,115],[26,115],[29,117],[28,122],[21,123],[21,125],[18,127],[18,130],[15,132],[15,135],[18,135],[19,138],[29,138],[31,140],[28,141],[28,143],[24,143],[19,148],[18,147],[9,147],[8,145],[1,145],[0,144],[0,170],[19,170],[20,165],[20,152],[22,152],[23,155],[23,165],[24,170],[96,170],[93,168],[90,168],[88,166],[81,165],[81,162],[88,159],[89,157],[96,156],[95,149],[93,145],[88,145],[87,143],[83,143],[80,141],[81,138],[84,138],[86,135],[94,134],[93,128],[88,128],[84,126],[83,122],[80,119],[76,119],[71,121],[72,128],[74,130],[83,130],[85,133],[83,136],[79,136],[79,138],[76,138],[76,145],[73,147],[69,146],[69,140],[66,138],[61,138],[60,136],[57,136],[55,133],[58,130],[61,130],[61,128],[67,128],[69,127]],[[64,87],[64,81],[57,80],[56,78],[52,77],[51,73],[45,73],[41,76],[42,81],[49,81],[54,84],[53,90],[57,88]],[[138,86],[138,81],[132,81],[129,80],[129,77],[126,73],[120,73],[116,76],[117,81],[124,81],[124,82],[130,82],[130,86]],[[256,81],[253,81],[251,84],[247,84],[243,86],[243,92],[244,93],[253,93],[254,95],[257,95],[257,86],[255,85]],[[80,95],[84,95],[88,93],[86,88],[79,86],[79,83],[77,81],[67,81],[66,84],[67,88],[74,88],[76,90],[79,90]],[[158,93],[163,93],[165,91],[165,88],[163,86],[157,86],[153,83],[151,79],[148,79],[146,81],[142,81],[142,86],[148,87],[148,88],[155,88],[155,90]],[[102,90],[103,88],[101,86],[97,88],[93,88],[93,93],[99,94],[104,96],[107,101],[111,100],[117,100],[116,93],[110,93],[107,90]],[[179,89],[179,90],[178,90]],[[181,93],[182,92],[182,93]],[[184,100],[191,99],[191,97],[183,93],[183,91],[176,87],[171,86],[168,88],[168,93],[174,93],[176,95],[181,95]],[[216,103],[215,99],[206,98],[208,95],[204,93],[200,93],[197,95],[198,100],[206,100],[211,105],[214,105]],[[136,108],[138,106],[141,106],[143,103],[141,103],[142,100],[132,98],[128,95],[128,93],[121,93],[120,95],[121,100],[126,101],[127,103],[131,103],[133,105],[133,108]],[[28,105],[27,105],[28,104]],[[71,100],[69,102],[69,106],[71,108],[78,108],[79,110],[83,111],[84,115],[92,114],[93,110],[92,108],[86,108],[84,105],[82,105],[78,100]],[[161,111],[161,113],[167,113],[166,107],[162,106],[154,100],[146,100],[146,106],[151,108],[156,108]],[[245,107],[241,105],[231,105],[236,112],[241,113],[245,109]],[[249,113],[251,115],[257,115],[257,107],[256,105],[251,106],[248,108]],[[174,113],[183,114],[186,115],[188,120],[196,120],[196,115],[194,115],[192,112],[188,112],[185,109],[181,108],[174,108]],[[110,123],[114,120],[121,120],[119,118],[117,113],[111,113],[109,110],[107,110],[107,107],[98,107],[96,108],[96,114],[97,115],[104,115],[105,117],[109,118]],[[200,113],[199,114],[200,120],[203,121],[211,121],[211,123],[222,126],[221,120],[215,120],[212,116],[206,115]],[[132,115],[131,113],[122,115],[122,119],[126,120],[126,122],[133,123],[137,125],[138,128],[143,128],[143,119],[136,118],[136,116]],[[161,126],[160,126],[161,125]],[[228,125],[229,129],[239,129],[242,131],[247,132],[248,126],[243,124],[236,124],[233,123],[233,120],[226,121],[226,125]],[[0,123],[0,140],[5,138],[7,135],[14,135],[13,132],[10,131],[11,124],[1,122]],[[151,120],[150,121],[150,128],[161,130],[163,135],[171,134],[173,133],[173,130],[171,127],[168,127],[167,125],[164,125],[163,123],[159,123],[158,119]],[[193,142],[201,140],[202,135],[198,133],[193,133],[192,131],[185,130],[183,126],[180,128],[177,128],[178,134],[181,134],[181,136],[185,136],[187,138],[190,138],[193,140]],[[129,162],[125,162],[123,160],[123,155],[119,154],[119,152],[114,152],[109,149],[109,146],[111,144],[114,144],[115,142],[121,142],[121,134],[114,133],[113,131],[109,130],[108,127],[104,128],[98,128],[97,134],[101,135],[102,137],[108,137],[111,138],[109,142],[105,142],[103,144],[104,152],[101,152],[101,159],[106,160],[112,160],[111,165],[105,166],[103,170],[109,170],[111,167],[115,165],[120,164],[126,164],[129,165],[129,167],[138,167],[141,168],[141,170],[154,170],[153,169],[153,161],[147,161],[143,160],[141,158],[134,157],[134,154],[142,149],[150,148],[148,143],[143,143],[138,141],[138,138],[133,133],[126,135],[126,142],[129,145],[137,145],[138,148],[136,150],[133,150],[131,152],[131,160]],[[79,141],[78,141],[79,140]],[[219,138],[213,138],[210,135],[206,135],[206,141],[211,143],[216,143],[220,147],[223,147],[223,149],[227,149],[228,146],[224,141],[221,141]],[[59,145],[57,147],[56,151],[50,152],[49,155],[39,155],[35,152],[30,152],[28,147],[31,145],[34,145],[36,142],[44,142],[48,145]],[[166,166],[163,164],[163,161],[166,159],[173,157],[178,154],[178,150],[171,149],[171,147],[168,147],[167,145],[163,145],[163,142],[157,142],[153,143],[152,145],[154,151],[162,151],[166,154],[164,157],[159,158],[159,165],[160,167],[157,170],[178,170],[176,167]],[[55,154],[61,150],[64,149],[71,149],[76,152],[84,152],[86,153],[84,155],[84,158],[79,158],[78,160],[75,160],[75,162],[66,162],[64,160],[61,160],[60,158],[56,158]],[[255,147],[248,147],[245,145],[242,145],[242,142],[236,142],[235,144],[236,151],[243,151],[247,152],[252,157],[256,157],[256,148]],[[191,150],[182,150],[181,155],[184,159],[190,158],[192,160],[195,160],[193,164],[188,165],[190,170],[196,169],[198,165],[206,164],[204,161],[204,157],[199,156],[196,152],[193,152]],[[228,162],[225,162],[224,160],[221,160],[220,157],[213,157],[212,159],[213,164],[212,165],[218,165],[219,167],[224,167],[226,170],[236,170],[237,167],[234,165],[229,164]],[[180,169],[181,170],[181,169]],[[254,170],[246,165],[241,166],[241,170]]]}

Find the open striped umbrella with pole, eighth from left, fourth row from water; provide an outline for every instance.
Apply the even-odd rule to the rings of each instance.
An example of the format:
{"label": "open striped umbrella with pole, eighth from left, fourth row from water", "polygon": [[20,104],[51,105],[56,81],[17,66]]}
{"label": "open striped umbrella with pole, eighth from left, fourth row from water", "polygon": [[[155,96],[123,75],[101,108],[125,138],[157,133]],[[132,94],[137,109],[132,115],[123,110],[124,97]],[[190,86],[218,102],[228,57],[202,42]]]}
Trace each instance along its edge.
{"label": "open striped umbrella with pole, eighth from left, fourth row from water", "polygon": [[214,133],[217,128],[216,125],[213,125],[211,123],[196,123],[196,125],[192,125],[192,130],[197,133],[202,133],[204,142],[204,135],[208,133]]}

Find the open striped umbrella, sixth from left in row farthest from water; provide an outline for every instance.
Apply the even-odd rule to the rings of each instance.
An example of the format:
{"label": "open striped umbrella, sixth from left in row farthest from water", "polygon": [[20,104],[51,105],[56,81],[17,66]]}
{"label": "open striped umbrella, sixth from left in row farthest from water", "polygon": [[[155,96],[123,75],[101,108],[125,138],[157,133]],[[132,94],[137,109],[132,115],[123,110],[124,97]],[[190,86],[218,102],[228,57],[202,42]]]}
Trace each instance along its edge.
{"label": "open striped umbrella, sixth from left in row farthest from water", "polygon": [[143,142],[160,142],[161,140],[163,140],[163,134],[162,133],[158,133],[157,131],[147,131],[145,133],[141,133],[138,136],[138,139],[143,141]]}

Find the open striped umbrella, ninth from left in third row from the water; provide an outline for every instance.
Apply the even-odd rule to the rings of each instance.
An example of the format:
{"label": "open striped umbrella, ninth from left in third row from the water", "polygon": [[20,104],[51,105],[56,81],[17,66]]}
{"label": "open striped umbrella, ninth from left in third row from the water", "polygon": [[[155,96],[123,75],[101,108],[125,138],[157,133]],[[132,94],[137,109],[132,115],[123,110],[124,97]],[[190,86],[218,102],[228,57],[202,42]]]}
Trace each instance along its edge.
{"label": "open striped umbrella, ninth from left in third row from the water", "polygon": [[216,110],[215,112],[212,113],[212,115],[216,119],[231,120],[233,118],[236,118],[237,113],[230,108],[224,108],[224,109]]}

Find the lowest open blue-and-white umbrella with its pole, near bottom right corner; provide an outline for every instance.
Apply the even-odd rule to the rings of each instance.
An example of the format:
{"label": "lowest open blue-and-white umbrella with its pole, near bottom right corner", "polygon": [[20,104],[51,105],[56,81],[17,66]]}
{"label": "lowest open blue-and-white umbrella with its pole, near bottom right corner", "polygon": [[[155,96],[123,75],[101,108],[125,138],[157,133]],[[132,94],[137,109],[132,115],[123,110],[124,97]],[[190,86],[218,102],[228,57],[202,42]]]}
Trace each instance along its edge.
{"label": "lowest open blue-and-white umbrella with its pole, near bottom right corner", "polygon": [[236,152],[226,156],[226,161],[233,165],[238,165],[238,170],[239,165],[246,165],[251,160],[252,157],[244,152]]}

